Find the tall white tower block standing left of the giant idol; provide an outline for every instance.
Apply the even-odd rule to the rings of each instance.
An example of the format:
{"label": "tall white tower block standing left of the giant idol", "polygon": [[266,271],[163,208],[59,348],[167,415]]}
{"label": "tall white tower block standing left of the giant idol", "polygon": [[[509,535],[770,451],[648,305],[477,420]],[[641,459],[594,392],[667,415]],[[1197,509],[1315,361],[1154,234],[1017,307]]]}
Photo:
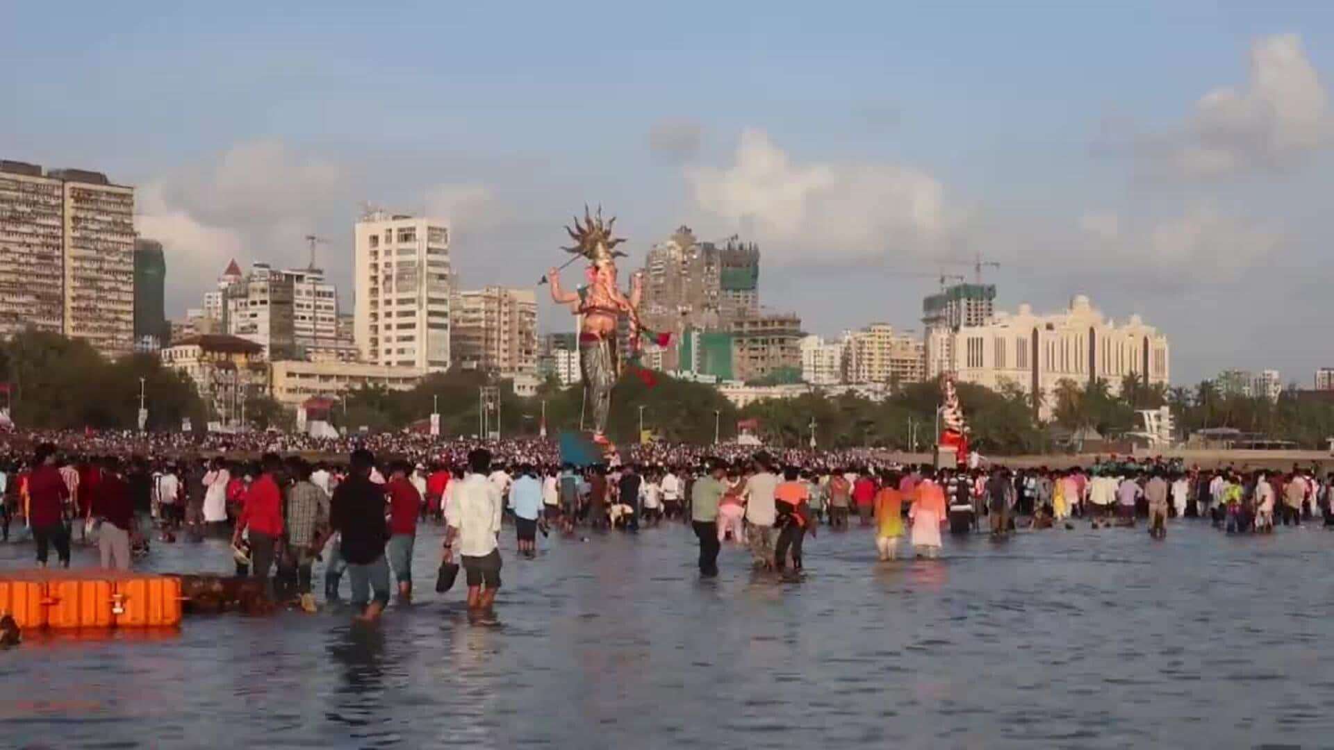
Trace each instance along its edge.
{"label": "tall white tower block standing left of the giant idol", "polygon": [[450,367],[450,228],[371,211],[355,230],[356,346],[374,364]]}

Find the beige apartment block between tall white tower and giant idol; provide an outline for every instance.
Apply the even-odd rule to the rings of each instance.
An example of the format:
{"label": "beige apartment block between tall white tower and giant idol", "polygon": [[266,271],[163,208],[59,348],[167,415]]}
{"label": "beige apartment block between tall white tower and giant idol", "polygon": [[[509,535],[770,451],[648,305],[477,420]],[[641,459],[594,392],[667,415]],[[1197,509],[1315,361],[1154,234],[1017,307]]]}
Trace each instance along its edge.
{"label": "beige apartment block between tall white tower and giant idol", "polygon": [[538,371],[538,298],[532,290],[484,287],[450,300],[451,356],[458,367],[503,376]]}

